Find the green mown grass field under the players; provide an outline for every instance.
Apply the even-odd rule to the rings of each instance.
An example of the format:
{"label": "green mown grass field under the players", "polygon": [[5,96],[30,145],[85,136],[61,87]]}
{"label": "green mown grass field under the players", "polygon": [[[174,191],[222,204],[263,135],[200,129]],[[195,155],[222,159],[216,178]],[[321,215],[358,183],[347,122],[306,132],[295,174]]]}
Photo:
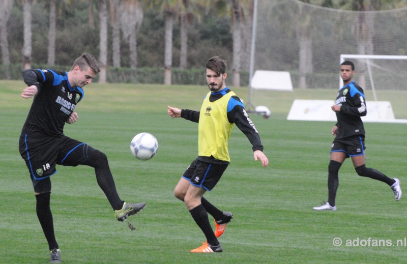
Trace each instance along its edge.
{"label": "green mown grass field under the players", "polygon": [[[0,81],[0,263],[45,263],[49,257],[33,188],[18,153],[32,101],[19,96],[24,87],[22,81]],[[253,102],[272,112],[269,120],[251,115],[270,165],[254,162],[247,138],[237,128],[232,131],[231,164],[206,197],[234,213],[234,220],[220,238],[222,253],[193,254],[189,250],[205,237],[172,191],[196,158],[197,124],[171,119],[166,106],[199,109],[207,87],[92,84],[84,90],[76,108],[79,121],[66,125],[65,134],[106,153],[121,198],[146,201],[147,207],[131,218],[137,226],[131,231],[115,220],[92,168],[57,167],[51,210],[63,263],[405,262],[407,197],[396,202],[387,185],[359,177],[350,160],[339,173],[338,210],[312,211],[327,200],[334,124],[287,121],[286,116],[294,99],[334,99],[336,91],[254,94]],[[233,90],[247,101],[246,88]],[[379,94],[380,100],[386,96],[394,100],[396,118],[407,118],[406,93]],[[402,188],[407,186],[406,126],[365,124],[367,166],[399,178]],[[130,154],[130,140],[139,132],[158,139],[158,153],[149,161]],[[341,246],[333,245],[335,238],[342,240]],[[365,245],[368,240],[370,246]],[[382,240],[381,246],[373,246],[374,240]],[[388,240],[392,244],[384,245]]]}

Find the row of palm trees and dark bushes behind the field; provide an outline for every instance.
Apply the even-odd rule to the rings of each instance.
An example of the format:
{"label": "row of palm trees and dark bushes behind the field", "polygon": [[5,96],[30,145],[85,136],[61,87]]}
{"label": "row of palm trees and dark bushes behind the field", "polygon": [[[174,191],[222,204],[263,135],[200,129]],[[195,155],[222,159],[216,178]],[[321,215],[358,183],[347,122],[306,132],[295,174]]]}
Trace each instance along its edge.
{"label": "row of palm trees and dark bushes behind the field", "polygon": [[[355,11],[406,6],[404,0],[292,1]],[[69,66],[76,56],[89,52],[99,60],[99,82],[106,82],[107,67],[155,67],[164,68],[164,83],[171,84],[174,68],[199,69],[210,56],[221,55],[228,60],[233,85],[239,86],[241,71],[249,70],[254,4],[255,0],[2,0],[2,65]],[[306,76],[312,70],[303,66],[310,60],[309,36],[304,34],[310,25],[300,24],[299,72]],[[363,16],[360,28],[369,28]],[[367,49],[363,52],[369,54]]]}

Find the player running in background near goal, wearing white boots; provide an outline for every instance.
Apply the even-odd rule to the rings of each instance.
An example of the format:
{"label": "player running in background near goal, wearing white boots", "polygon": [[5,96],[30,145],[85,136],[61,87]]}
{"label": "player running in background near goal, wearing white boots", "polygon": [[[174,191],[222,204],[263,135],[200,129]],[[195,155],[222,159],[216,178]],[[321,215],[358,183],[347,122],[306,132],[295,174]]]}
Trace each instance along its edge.
{"label": "player running in background near goal, wearing white boots", "polygon": [[394,192],[396,201],[401,198],[400,181],[391,179],[380,171],[366,167],[365,129],[361,116],[366,115],[366,101],[362,88],[352,80],[355,65],[344,61],[340,65],[343,87],[331,108],[336,113],[337,123],[332,128],[335,139],[331,148],[328,166],[328,202],[313,210],[336,210],[335,197],[339,186],[338,171],[346,158],[351,157],[358,175],[388,184]]}

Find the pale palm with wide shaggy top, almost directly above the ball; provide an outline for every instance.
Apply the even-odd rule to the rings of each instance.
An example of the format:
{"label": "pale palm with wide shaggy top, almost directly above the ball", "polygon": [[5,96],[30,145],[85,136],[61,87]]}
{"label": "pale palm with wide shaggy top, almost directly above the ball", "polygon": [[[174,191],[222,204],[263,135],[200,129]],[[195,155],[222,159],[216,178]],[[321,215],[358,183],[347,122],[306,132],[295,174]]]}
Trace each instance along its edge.
{"label": "pale palm with wide shaggy top, almost directly above the ball", "polygon": [[123,0],[121,5],[123,37],[129,43],[130,68],[137,68],[137,30],[143,20],[143,10],[139,0]]}

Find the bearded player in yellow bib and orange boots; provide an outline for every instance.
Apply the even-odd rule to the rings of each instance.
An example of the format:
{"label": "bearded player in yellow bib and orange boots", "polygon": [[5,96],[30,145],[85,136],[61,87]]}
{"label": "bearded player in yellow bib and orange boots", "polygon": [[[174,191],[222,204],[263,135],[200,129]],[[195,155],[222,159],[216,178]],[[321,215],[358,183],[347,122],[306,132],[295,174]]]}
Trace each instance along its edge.
{"label": "bearded player in yellow bib and orange boots", "polygon": [[[203,194],[215,187],[229,164],[228,139],[234,124],[252,144],[254,160],[260,160],[263,167],[269,165],[258,132],[243,103],[225,85],[226,62],[217,56],[210,58],[206,65],[206,76],[211,91],[203,100],[200,111],[171,106],[167,110],[172,118],[198,123],[198,157],[189,165],[174,190],[175,196],[185,202],[207,239],[202,246],[191,250],[194,253],[222,252],[217,238],[223,234],[232,214],[217,209],[203,198]],[[208,213],[215,218],[215,232]]]}

